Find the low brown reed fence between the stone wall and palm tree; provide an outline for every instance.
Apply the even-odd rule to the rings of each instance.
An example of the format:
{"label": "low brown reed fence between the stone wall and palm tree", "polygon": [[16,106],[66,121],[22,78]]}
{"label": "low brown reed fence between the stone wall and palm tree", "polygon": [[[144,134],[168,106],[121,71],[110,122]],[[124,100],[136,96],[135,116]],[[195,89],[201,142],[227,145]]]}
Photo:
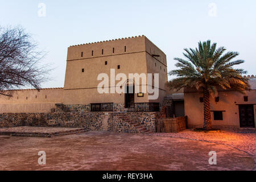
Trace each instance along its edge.
{"label": "low brown reed fence between the stone wall and palm tree", "polygon": [[187,129],[187,117],[156,119],[157,133],[179,133]]}

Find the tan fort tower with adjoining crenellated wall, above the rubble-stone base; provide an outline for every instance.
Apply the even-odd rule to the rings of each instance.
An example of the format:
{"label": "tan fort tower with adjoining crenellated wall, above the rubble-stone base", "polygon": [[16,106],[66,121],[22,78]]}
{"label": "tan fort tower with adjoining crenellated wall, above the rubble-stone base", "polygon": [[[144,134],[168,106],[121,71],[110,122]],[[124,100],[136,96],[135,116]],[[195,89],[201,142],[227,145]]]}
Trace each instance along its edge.
{"label": "tan fort tower with adjoining crenellated wall, above the rubble-stone base", "polygon": [[[97,77],[100,73],[106,73],[110,79],[110,69],[114,69],[115,75],[125,73],[127,77],[129,73],[159,73],[158,99],[150,100],[148,92],[98,93],[101,81]],[[51,109],[56,109],[56,104],[113,103],[119,110],[125,109],[128,103],[162,105],[166,95],[166,82],[166,55],[146,36],[87,43],[68,48],[64,88],[41,89],[40,92],[35,89],[13,90],[13,97],[0,96],[0,113],[48,113]],[[134,87],[134,84],[134,80],[127,80],[122,86],[129,88]],[[142,82],[139,82],[139,86],[141,88]]]}

